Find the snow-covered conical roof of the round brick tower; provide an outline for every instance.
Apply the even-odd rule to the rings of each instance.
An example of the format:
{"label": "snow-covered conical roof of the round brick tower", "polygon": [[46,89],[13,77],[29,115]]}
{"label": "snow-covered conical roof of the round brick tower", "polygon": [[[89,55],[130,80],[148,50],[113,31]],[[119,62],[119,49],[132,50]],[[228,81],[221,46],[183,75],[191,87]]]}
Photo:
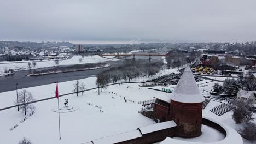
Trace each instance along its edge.
{"label": "snow-covered conical roof of the round brick tower", "polygon": [[185,68],[181,79],[171,95],[171,100],[182,103],[201,103],[205,101],[189,66]]}

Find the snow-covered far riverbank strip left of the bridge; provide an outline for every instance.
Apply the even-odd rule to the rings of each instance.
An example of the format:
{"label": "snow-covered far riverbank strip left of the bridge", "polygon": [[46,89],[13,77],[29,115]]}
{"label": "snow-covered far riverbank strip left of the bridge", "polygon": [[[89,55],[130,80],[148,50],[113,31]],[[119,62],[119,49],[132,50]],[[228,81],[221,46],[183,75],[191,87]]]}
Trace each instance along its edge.
{"label": "snow-covered far riverbank strip left of the bridge", "polygon": [[[86,63],[98,63],[98,62],[106,62],[106,61],[117,61],[118,59],[114,58],[114,56],[105,56],[100,57],[98,55],[93,55],[93,56],[86,56],[82,58],[82,61],[79,62],[79,59],[82,58],[82,56],[73,56],[70,59],[64,59],[60,60],[59,64],[57,65],[74,65],[74,64],[86,64]],[[24,61],[22,61],[24,62]],[[19,70],[28,70],[28,69],[38,69],[38,68],[46,68],[46,67],[54,67],[57,66],[55,64],[55,61],[41,61],[37,62],[36,66],[33,67],[32,61],[31,62],[31,68],[28,67],[28,63],[6,63],[1,62],[0,63],[0,76],[6,75],[4,73],[5,70],[13,69],[14,71],[19,71]]]}

